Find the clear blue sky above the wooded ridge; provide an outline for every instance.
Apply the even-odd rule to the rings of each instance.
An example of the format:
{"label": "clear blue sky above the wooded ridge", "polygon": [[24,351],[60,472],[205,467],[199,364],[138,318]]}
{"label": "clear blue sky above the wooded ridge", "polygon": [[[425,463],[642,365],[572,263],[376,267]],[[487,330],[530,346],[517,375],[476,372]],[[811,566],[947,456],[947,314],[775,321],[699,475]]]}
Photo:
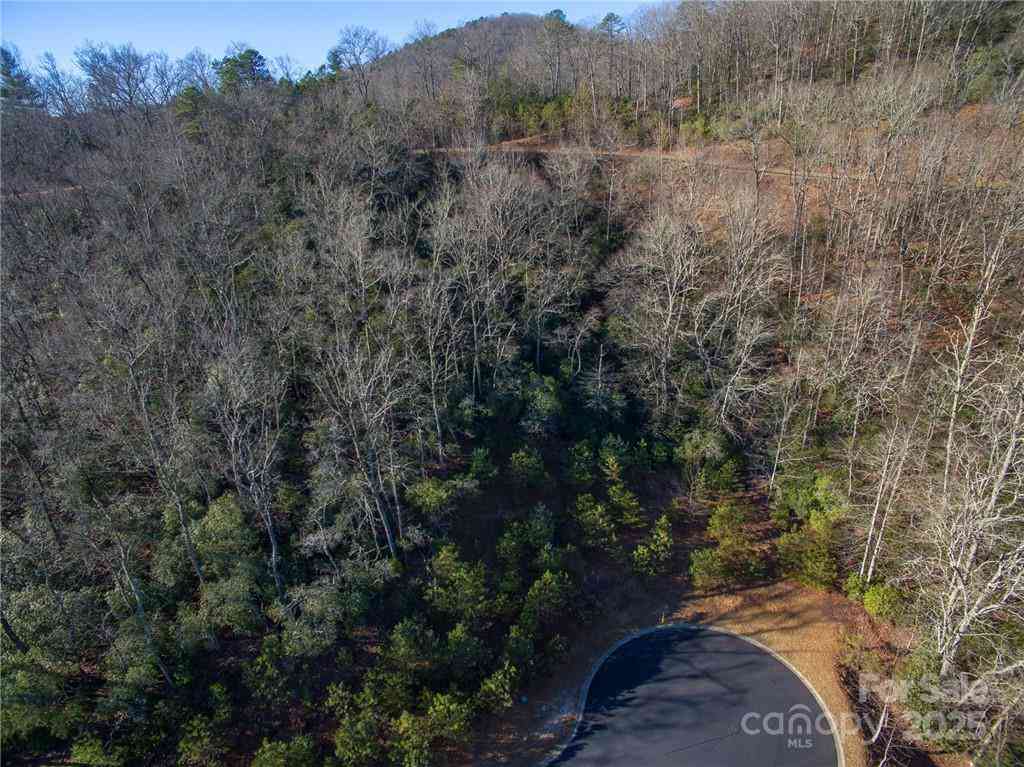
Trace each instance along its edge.
{"label": "clear blue sky above the wooded ridge", "polygon": [[139,50],[164,50],[180,56],[199,47],[219,56],[232,42],[247,42],[268,60],[288,54],[302,69],[325,59],[338,31],[347,25],[378,30],[392,42],[402,42],[417,20],[428,19],[439,30],[502,11],[546,13],[562,8],[573,22],[600,18],[608,11],[630,15],[646,3],[625,0],[559,2],[441,2],[439,0],[377,0],[377,2],[112,2],[81,0],[50,2],[0,0],[0,36],[20,49],[26,62],[52,52],[69,66],[75,48],[85,40],[131,42]]}

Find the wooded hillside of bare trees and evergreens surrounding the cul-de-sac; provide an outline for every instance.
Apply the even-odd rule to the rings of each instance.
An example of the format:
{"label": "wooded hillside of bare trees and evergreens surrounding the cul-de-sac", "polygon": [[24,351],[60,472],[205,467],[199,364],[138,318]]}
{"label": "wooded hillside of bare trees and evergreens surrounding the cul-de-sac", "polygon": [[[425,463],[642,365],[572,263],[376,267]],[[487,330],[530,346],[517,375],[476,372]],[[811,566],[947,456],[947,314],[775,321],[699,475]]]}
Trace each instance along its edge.
{"label": "wooded hillside of bare trees and evergreens surrounding the cul-de-sac", "polygon": [[611,584],[791,579],[980,712],[870,764],[1020,764],[1021,5],[324,56],[3,51],[5,761],[472,763]]}

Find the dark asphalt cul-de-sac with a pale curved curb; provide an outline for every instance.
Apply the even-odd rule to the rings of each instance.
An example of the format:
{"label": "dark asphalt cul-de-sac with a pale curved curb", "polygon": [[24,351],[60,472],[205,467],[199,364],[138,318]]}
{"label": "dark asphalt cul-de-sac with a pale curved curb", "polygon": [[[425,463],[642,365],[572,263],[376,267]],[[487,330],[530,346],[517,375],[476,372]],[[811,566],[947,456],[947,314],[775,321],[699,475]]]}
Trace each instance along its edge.
{"label": "dark asphalt cul-de-sac with a pale curved curb", "polygon": [[[780,716],[764,718],[773,712]],[[820,716],[824,734],[813,725],[804,734],[801,714]],[[810,689],[769,652],[731,634],[671,627],[607,658],[575,737],[553,764],[837,767],[821,715]]]}

